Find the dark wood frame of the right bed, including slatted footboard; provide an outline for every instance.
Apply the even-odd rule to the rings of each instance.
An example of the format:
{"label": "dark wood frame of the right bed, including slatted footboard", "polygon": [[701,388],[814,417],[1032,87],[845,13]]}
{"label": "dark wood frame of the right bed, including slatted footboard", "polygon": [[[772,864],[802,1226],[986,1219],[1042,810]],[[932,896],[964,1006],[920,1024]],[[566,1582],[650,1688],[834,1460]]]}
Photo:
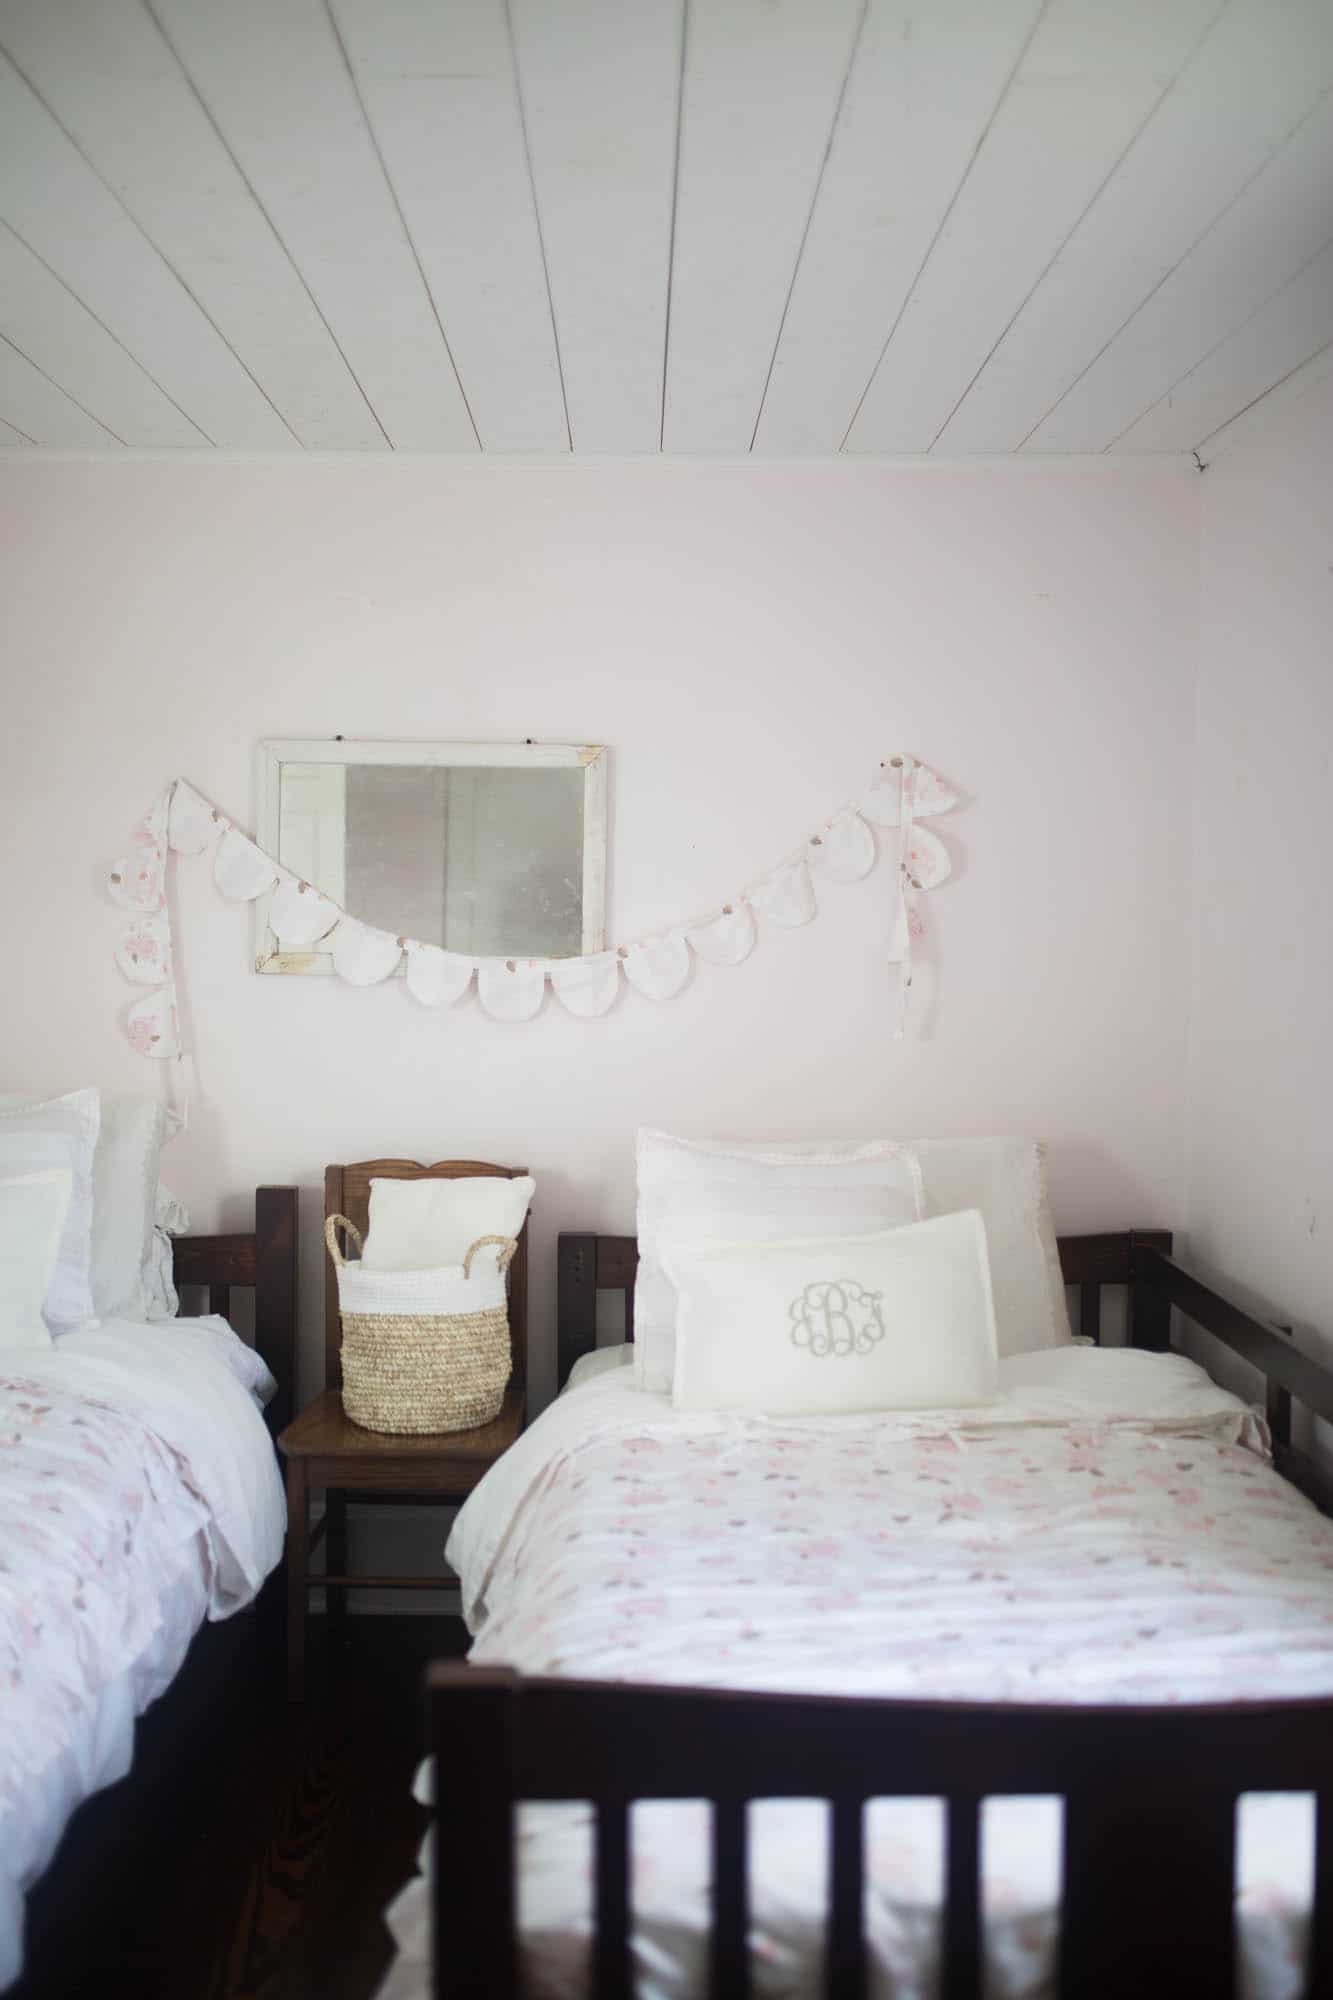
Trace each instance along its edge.
{"label": "dark wood frame of the right bed, including slatted footboard", "polygon": [[[1267,1382],[1277,1470],[1333,1512],[1327,1470],[1293,1438],[1293,1406],[1333,1420],[1333,1374],[1203,1284],[1171,1236],[1129,1230],[1061,1240],[1079,1330],[1101,1334],[1105,1286],[1129,1290],[1129,1340],[1171,1346],[1173,1308]],[[596,1346],[596,1296],[624,1296],[634,1328],[630,1236],[560,1236],[558,1378]],[[1065,1800],[1059,2000],[1223,2000],[1235,1992],[1235,1804],[1243,1792],[1317,1794],[1315,1906],[1305,1992],[1333,1994],[1333,1700],[1087,1708],[739,1694],[524,1678],[434,1666],[430,1726],[440,1782],[434,1992],[500,2000],[518,1990],[514,1806],[592,1800],[592,1994],[632,1994],[628,1806],[713,1802],[709,1994],[751,1992],[747,1816],[753,1798],[831,1804],[825,1990],[861,2000],[863,1806],[925,1794],[947,1804],[943,2000],[983,1992],[979,1816],[987,1796]]]}

